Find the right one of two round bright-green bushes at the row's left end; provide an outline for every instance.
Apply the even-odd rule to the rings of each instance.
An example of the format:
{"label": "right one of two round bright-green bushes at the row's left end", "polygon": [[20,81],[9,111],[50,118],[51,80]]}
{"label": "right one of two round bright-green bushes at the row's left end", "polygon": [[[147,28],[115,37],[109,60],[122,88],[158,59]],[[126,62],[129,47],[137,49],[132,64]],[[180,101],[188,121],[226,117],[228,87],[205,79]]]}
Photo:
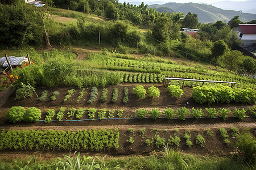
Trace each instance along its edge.
{"label": "right one of two round bright-green bushes at the row's left end", "polygon": [[36,122],[41,118],[41,110],[35,107],[28,108],[24,114],[24,122]]}

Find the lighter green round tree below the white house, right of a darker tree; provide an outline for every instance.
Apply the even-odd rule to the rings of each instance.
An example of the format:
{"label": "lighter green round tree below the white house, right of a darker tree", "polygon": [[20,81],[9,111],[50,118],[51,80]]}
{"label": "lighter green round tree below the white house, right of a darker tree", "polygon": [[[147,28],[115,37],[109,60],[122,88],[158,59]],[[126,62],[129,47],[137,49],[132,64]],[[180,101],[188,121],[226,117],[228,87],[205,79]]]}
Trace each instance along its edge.
{"label": "lighter green round tree below the white house, right of a darker tree", "polygon": [[242,53],[237,50],[231,50],[230,52],[226,53],[223,58],[223,63],[225,64],[225,67],[229,69],[229,71],[238,69],[242,61]]}

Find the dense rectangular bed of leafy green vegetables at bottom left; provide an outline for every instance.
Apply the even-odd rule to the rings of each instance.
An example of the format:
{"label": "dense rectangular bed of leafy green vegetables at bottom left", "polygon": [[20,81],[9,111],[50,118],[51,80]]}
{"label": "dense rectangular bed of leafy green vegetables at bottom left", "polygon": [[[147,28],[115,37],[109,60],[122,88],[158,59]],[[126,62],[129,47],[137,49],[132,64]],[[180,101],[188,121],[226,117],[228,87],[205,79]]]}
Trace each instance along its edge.
{"label": "dense rectangular bed of leafy green vegetables at bottom left", "polygon": [[0,150],[117,150],[118,142],[118,129],[2,130],[0,133]]}

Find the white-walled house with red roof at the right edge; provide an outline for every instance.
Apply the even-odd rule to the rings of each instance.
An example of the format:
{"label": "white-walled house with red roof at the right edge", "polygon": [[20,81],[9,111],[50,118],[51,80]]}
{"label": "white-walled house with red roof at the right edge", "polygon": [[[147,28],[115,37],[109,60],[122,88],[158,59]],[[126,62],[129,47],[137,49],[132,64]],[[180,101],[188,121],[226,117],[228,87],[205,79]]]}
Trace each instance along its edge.
{"label": "white-walled house with red roof at the right edge", "polygon": [[243,41],[241,48],[255,56],[256,50],[256,24],[238,24],[233,27],[239,39]]}

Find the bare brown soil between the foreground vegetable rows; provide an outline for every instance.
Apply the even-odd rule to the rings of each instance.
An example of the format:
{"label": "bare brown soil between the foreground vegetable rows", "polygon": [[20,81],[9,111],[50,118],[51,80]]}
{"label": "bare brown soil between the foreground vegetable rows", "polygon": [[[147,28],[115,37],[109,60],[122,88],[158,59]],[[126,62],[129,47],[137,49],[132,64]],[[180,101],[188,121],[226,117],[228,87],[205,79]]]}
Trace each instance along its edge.
{"label": "bare brown soil between the foreground vegetable rows", "polygon": [[[141,84],[141,83],[140,83]],[[79,96],[79,92],[81,91],[75,87],[55,87],[51,89],[47,88],[37,88],[36,93],[40,96],[43,90],[48,90],[47,99],[45,101],[40,102],[36,96],[32,96],[28,99],[23,100],[15,100],[15,94],[13,91],[2,91],[0,93],[2,107],[0,105],[0,129],[34,129],[34,130],[44,130],[44,129],[54,129],[54,130],[83,130],[83,129],[100,129],[100,128],[118,128],[120,133],[120,141],[119,141],[119,149],[118,150],[110,150],[110,151],[102,151],[102,152],[90,152],[90,151],[81,151],[82,155],[111,155],[111,156],[120,156],[120,155],[131,155],[131,154],[139,154],[139,155],[148,155],[152,154],[152,151],[162,150],[162,147],[157,148],[154,144],[151,146],[147,146],[145,140],[152,139],[155,135],[159,135],[160,137],[166,139],[170,138],[170,135],[174,137],[175,128],[179,129],[179,135],[181,142],[179,147],[171,146],[172,148],[176,148],[180,151],[183,151],[188,154],[193,155],[230,155],[236,152],[236,148],[232,145],[226,145],[224,140],[222,139],[220,132],[218,131],[219,128],[225,128],[229,130],[231,127],[237,127],[240,130],[244,128],[250,128],[251,133],[255,135],[256,130],[256,123],[254,118],[244,118],[242,121],[238,120],[237,118],[226,118],[226,120],[222,120],[222,118],[200,118],[196,120],[195,118],[186,118],[185,121],[176,119],[166,120],[164,118],[158,118],[157,120],[152,120],[149,118],[145,118],[143,120],[138,119],[125,119],[125,120],[95,120],[95,121],[61,121],[61,122],[52,122],[49,124],[44,123],[43,121],[38,121],[35,123],[25,123],[20,122],[18,124],[10,124],[5,121],[5,116],[9,108],[13,106],[22,106],[25,108],[28,107],[38,107],[42,110],[42,118],[44,120],[46,117],[46,110],[47,109],[58,109],[60,107],[66,107],[70,109],[71,107],[78,108],[97,108],[102,109],[106,108],[107,110],[118,110],[123,109],[123,117],[131,118],[135,117],[135,111],[138,108],[148,109],[149,111],[151,108],[158,108],[160,110],[166,108],[173,108],[177,109],[180,107],[187,107],[187,108],[202,108],[205,112],[205,108],[214,107],[218,108],[249,108],[253,107],[253,105],[242,105],[237,103],[230,103],[230,104],[197,104],[192,99],[191,93],[192,88],[185,87],[184,94],[181,96],[180,99],[176,99],[171,97],[168,93],[166,87],[163,87],[162,84],[141,84],[144,88],[151,87],[152,85],[156,86],[160,90],[160,97],[153,99],[148,94],[144,99],[138,99],[136,95],[132,94],[133,87],[137,86],[137,84],[132,83],[122,83],[118,86],[106,86],[108,88],[108,101],[105,103],[100,102],[100,97],[102,94],[102,87],[98,88],[98,96],[96,101],[93,104],[88,104],[87,101],[90,95],[91,87],[85,88],[86,94],[82,97],[82,99],[77,103],[76,99]],[[129,102],[127,104],[122,103],[123,99],[123,89],[127,87],[129,89]],[[68,90],[75,89],[76,92],[71,98],[64,102],[65,95],[67,95]],[[112,103],[112,92],[114,88],[118,88],[118,100],[116,103]],[[57,96],[57,99],[51,101],[50,96],[52,96],[53,91],[59,91],[60,95]],[[3,102],[3,101],[6,102]],[[187,104],[189,103],[189,104]],[[57,111],[55,113],[57,113]],[[67,112],[67,111],[66,111]],[[115,118],[117,118],[117,111],[115,112]],[[232,116],[230,114],[229,116]],[[150,117],[150,115],[147,115]],[[187,116],[191,117],[191,116]],[[87,114],[81,119],[88,118]],[[55,117],[53,117],[53,120]],[[71,118],[72,120],[77,120],[75,117]],[[63,120],[69,120],[67,116],[64,117]],[[128,130],[129,128],[134,129],[134,134],[131,134]],[[140,133],[140,129],[146,128],[146,133]],[[213,131],[213,136],[210,137],[206,134],[206,129],[210,128]],[[193,145],[188,147],[185,145],[185,139],[183,138],[184,131],[190,130],[191,132],[191,141]],[[196,135],[201,134],[205,139],[204,147],[201,147],[196,144]],[[126,140],[130,137],[133,137],[134,143],[131,144]],[[230,135],[229,140],[231,142],[234,141],[234,138]],[[51,159],[56,156],[62,157],[63,154],[69,155],[75,151],[0,151],[1,158],[16,158],[16,156],[26,157],[28,155],[37,155],[38,157],[41,156],[42,159]]]}

